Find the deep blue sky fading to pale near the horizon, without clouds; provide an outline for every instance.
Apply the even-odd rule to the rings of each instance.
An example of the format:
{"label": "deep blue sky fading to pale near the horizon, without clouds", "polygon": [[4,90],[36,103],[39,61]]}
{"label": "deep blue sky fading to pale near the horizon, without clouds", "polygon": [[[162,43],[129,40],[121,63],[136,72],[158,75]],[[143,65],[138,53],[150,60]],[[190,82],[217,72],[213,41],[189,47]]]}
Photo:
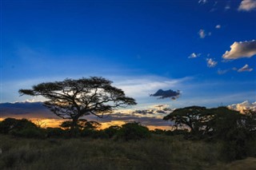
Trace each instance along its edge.
{"label": "deep blue sky fading to pale near the horizon, without clouds", "polygon": [[[256,39],[256,10],[238,10],[241,2],[2,0],[1,102],[32,99],[18,89],[43,81],[90,76],[114,81],[138,107],[254,102],[255,55],[222,58]],[[158,89],[182,95],[149,97]]]}

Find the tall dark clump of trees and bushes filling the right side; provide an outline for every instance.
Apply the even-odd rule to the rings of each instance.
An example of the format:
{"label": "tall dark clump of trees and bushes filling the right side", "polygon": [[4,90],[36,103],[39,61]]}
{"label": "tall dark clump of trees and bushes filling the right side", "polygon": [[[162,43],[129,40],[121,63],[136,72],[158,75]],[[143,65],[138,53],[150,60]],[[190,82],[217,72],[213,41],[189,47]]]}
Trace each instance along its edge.
{"label": "tall dark clump of trees and bushes filling the right side", "polygon": [[221,142],[223,160],[256,156],[251,152],[251,148],[256,146],[255,111],[245,110],[242,114],[226,107],[206,109],[192,106],[176,109],[163,119],[187,127],[190,130],[185,133],[187,139]]}

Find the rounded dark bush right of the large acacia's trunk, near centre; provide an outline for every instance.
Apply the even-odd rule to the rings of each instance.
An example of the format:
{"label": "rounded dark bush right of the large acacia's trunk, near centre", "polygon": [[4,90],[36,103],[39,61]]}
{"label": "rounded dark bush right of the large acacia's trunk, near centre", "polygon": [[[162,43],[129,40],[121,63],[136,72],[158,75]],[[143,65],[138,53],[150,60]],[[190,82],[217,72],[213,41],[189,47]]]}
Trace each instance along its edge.
{"label": "rounded dark bush right of the large acacia's trunk, near centre", "polygon": [[123,140],[141,140],[150,137],[150,130],[138,122],[122,125],[117,138]]}

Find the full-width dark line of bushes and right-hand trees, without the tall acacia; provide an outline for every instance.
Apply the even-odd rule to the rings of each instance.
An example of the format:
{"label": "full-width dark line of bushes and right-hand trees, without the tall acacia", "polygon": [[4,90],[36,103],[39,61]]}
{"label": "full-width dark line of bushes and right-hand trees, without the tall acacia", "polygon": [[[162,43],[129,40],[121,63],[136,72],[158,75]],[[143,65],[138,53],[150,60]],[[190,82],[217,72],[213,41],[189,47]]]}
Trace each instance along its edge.
{"label": "full-width dark line of bushes and right-hand trees, without the tall acacia", "polygon": [[[26,119],[6,118],[0,122],[0,133],[33,138],[91,137],[112,140],[141,140],[152,135],[184,136],[185,140],[203,140],[220,145],[222,160],[231,161],[256,157],[256,113],[246,110],[243,114],[226,107],[206,109],[192,106],[176,109],[166,117],[174,123],[174,130],[150,131],[138,122],[99,129],[96,121],[64,121],[60,128],[41,128]],[[72,132],[71,132],[72,131]]]}

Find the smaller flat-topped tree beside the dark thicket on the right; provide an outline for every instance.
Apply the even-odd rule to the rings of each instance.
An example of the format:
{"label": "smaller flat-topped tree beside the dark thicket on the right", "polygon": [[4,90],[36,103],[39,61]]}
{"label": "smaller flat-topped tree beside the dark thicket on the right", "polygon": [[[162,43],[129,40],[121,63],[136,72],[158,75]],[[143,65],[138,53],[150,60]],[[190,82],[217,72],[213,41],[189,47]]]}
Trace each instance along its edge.
{"label": "smaller flat-topped tree beside the dark thicket on the right", "polygon": [[207,112],[206,107],[190,106],[182,109],[175,109],[166,117],[165,121],[174,121],[176,126],[190,128],[192,134],[201,134],[210,131],[209,121],[213,114]]}

